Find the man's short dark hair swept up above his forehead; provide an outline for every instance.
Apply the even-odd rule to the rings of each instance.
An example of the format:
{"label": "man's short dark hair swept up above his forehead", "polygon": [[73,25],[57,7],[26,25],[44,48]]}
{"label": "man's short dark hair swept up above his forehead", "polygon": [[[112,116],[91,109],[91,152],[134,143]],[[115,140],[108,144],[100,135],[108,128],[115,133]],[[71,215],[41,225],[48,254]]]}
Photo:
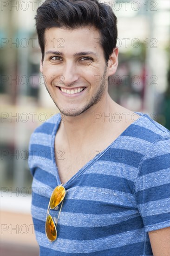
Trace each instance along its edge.
{"label": "man's short dark hair swept up above his forehead", "polygon": [[98,0],[46,0],[35,16],[42,62],[45,51],[45,30],[51,27],[75,29],[93,26],[100,33],[98,43],[104,49],[106,64],[116,47],[117,17],[111,7]]}

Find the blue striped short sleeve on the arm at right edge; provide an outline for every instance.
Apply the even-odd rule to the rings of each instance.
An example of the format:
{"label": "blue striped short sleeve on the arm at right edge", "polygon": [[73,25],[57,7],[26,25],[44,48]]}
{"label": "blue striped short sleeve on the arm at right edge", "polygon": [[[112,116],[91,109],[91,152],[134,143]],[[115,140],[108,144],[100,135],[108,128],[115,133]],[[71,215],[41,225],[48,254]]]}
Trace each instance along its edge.
{"label": "blue striped short sleeve on the arm at right edge", "polygon": [[157,141],[141,162],[137,207],[147,232],[170,226],[170,138]]}

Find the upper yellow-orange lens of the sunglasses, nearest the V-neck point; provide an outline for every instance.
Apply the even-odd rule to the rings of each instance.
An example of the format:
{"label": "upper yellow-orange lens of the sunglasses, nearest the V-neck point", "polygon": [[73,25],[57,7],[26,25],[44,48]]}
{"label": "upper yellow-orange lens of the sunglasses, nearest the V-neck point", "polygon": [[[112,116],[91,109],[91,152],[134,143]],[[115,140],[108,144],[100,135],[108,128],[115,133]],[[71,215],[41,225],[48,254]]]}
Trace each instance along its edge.
{"label": "upper yellow-orange lens of the sunglasses, nearest the V-neck point", "polygon": [[58,186],[52,192],[52,196],[50,198],[50,208],[55,208],[65,197],[65,188],[62,186]]}

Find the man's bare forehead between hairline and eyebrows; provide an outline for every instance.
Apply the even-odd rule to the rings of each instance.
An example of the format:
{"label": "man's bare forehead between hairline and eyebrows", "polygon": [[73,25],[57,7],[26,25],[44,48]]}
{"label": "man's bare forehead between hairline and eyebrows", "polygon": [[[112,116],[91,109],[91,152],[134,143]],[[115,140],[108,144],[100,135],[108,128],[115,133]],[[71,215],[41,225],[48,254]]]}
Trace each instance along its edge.
{"label": "man's bare forehead between hairline and eyebrows", "polygon": [[95,27],[82,27],[67,29],[52,27],[45,31],[45,50],[58,51],[102,51],[100,46],[101,36]]}

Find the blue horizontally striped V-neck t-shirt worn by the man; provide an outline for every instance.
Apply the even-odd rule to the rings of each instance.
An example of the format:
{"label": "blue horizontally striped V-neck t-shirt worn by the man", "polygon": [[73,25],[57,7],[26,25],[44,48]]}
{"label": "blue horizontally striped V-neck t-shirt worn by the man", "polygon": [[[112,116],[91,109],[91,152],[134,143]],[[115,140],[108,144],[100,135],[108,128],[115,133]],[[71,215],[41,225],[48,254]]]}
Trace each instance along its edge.
{"label": "blue horizontally striped V-neck t-shirt worn by the man", "polygon": [[[35,129],[29,145],[32,216],[40,256],[151,256],[148,236],[170,226],[170,131],[148,115],[131,124],[63,186],[58,238],[45,234],[60,185],[54,140],[61,116]],[[81,148],[80,148],[81,150]],[[58,210],[50,210],[58,217]]]}

